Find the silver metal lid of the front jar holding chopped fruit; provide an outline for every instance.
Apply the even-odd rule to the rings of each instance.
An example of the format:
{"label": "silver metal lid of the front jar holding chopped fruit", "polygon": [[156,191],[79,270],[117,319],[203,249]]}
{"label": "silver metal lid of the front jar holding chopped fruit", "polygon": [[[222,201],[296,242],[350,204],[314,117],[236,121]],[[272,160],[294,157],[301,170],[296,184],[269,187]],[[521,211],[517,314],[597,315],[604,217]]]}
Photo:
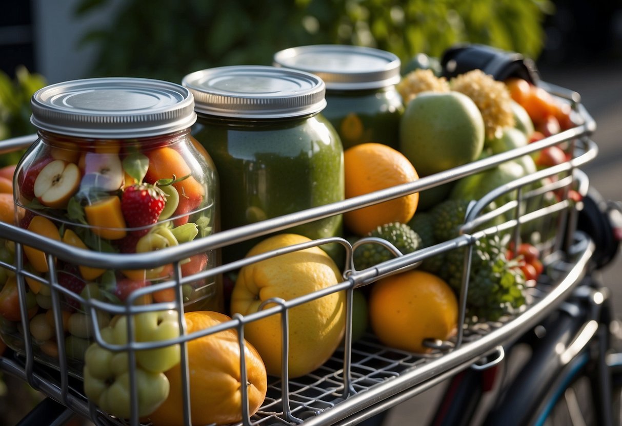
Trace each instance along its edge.
{"label": "silver metal lid of the front jar holding chopped fruit", "polygon": [[194,99],[179,84],[146,78],[90,78],[51,84],[30,100],[40,130],[87,138],[138,138],[187,129]]}

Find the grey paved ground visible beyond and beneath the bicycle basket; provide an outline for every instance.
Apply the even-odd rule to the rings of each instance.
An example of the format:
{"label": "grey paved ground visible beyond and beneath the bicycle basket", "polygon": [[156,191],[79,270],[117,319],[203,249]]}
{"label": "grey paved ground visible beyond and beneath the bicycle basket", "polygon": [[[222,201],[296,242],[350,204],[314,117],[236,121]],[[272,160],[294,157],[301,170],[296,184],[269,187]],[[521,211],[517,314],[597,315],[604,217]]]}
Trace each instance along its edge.
{"label": "grey paved ground visible beyond and beneath the bicycle basket", "polygon": [[[607,199],[622,200],[622,63],[601,63],[540,69],[542,79],[577,91],[583,105],[596,120],[593,140],[598,144],[596,160],[583,168]],[[603,278],[613,291],[614,304],[622,318],[622,256],[603,271]],[[404,402],[392,409],[385,426],[427,424],[435,401],[445,384]]]}

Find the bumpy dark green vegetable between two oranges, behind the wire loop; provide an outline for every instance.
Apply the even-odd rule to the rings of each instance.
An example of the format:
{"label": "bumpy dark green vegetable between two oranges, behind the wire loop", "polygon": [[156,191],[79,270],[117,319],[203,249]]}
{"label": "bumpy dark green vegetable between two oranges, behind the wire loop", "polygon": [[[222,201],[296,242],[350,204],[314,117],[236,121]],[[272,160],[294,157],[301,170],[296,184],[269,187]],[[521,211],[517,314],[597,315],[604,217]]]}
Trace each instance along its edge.
{"label": "bumpy dark green vegetable between two oranges, behind the wire loop", "polygon": [[[383,238],[394,245],[402,255],[412,253],[421,248],[421,237],[406,224],[391,222],[384,224],[368,233],[369,237]],[[354,253],[354,265],[357,270],[378,265],[383,261],[394,258],[388,248],[378,243],[366,243],[357,247]]]}

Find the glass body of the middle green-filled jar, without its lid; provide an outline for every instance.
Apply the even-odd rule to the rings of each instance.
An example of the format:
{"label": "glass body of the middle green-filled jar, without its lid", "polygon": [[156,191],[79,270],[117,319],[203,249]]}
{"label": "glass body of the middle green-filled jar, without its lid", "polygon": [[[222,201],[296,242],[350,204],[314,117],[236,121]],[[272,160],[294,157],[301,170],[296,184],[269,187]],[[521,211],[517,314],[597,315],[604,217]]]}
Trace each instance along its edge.
{"label": "glass body of the middle green-filled jar, without its lid", "polygon": [[[255,120],[198,114],[193,135],[220,176],[223,230],[344,198],[343,148],[322,114]],[[341,216],[286,232],[332,237],[341,232]],[[257,242],[223,248],[223,261],[243,258]]]}

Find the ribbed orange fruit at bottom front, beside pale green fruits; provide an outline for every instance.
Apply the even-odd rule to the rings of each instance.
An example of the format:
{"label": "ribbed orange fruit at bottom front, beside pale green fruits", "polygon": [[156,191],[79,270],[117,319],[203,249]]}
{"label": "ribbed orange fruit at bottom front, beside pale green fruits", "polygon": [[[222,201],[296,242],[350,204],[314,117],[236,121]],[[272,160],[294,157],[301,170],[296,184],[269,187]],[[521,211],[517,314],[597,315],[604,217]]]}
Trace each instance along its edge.
{"label": "ribbed orange fruit at bottom front, beside pale green fruits", "polygon": [[[184,314],[187,333],[200,332],[230,320],[207,310]],[[230,424],[242,420],[242,392],[238,333],[228,329],[190,340],[187,345],[192,425]],[[267,390],[267,374],[255,348],[246,342],[248,405],[253,415],[261,407]],[[154,426],[183,425],[181,366],[165,371],[169,397],[149,416]]]}

